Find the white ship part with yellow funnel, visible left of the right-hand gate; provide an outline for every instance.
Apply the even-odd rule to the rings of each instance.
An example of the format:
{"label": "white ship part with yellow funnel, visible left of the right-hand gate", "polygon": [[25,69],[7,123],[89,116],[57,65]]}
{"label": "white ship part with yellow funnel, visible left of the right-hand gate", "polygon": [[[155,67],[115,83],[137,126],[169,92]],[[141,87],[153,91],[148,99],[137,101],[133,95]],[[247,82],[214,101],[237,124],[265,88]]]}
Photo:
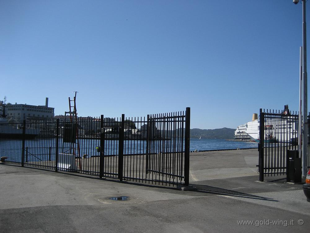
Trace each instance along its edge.
{"label": "white ship part with yellow funnel, visible left of the right-hand gate", "polygon": [[253,141],[259,139],[259,121],[257,113],[253,114],[252,121],[249,121],[237,127],[234,139]]}

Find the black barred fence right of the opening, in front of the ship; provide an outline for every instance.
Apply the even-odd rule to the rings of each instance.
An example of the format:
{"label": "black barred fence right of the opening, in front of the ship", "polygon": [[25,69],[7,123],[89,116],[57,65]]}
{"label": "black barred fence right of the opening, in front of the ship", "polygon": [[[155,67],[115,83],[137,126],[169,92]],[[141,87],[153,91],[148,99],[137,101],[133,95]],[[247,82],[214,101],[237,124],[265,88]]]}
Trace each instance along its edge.
{"label": "black barred fence right of the opening, in front of the ship", "polygon": [[[308,121],[310,116],[308,115]],[[308,124],[308,132],[310,128]],[[259,180],[264,176],[286,174],[287,150],[299,149],[298,112],[260,109],[259,117]],[[309,164],[308,141],[308,168]]]}

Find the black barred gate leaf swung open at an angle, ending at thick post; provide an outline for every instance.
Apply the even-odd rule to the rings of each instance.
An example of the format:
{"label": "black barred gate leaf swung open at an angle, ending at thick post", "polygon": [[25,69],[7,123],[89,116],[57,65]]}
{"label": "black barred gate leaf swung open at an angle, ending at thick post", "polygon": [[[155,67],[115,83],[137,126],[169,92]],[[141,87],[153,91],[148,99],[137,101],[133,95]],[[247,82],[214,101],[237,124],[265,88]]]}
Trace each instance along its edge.
{"label": "black barred gate leaf swung open at an angle, ending at thick post", "polygon": [[[189,108],[187,109],[189,114]],[[147,179],[162,183],[182,183],[186,129],[184,112],[148,116],[146,171]],[[186,137],[185,137],[186,138]]]}

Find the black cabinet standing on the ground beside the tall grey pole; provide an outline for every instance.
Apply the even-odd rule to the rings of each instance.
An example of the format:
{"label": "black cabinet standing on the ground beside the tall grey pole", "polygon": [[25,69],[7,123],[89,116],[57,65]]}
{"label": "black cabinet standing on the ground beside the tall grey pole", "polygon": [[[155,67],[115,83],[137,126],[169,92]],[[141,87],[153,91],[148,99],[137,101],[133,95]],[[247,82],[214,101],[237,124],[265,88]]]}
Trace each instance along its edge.
{"label": "black cabinet standing on the ground beside the tall grey pole", "polygon": [[299,158],[298,150],[286,151],[286,181],[301,182],[301,158]]}

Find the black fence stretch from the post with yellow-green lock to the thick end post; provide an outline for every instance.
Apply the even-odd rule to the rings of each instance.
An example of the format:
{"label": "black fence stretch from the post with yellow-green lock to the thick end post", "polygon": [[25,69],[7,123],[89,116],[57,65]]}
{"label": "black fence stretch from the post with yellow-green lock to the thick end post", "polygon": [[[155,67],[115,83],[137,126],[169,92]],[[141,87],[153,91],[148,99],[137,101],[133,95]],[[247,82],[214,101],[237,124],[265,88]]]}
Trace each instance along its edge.
{"label": "black fence stretch from the post with yellow-green lock to the thick end post", "polygon": [[189,117],[190,108],[120,121],[102,116],[100,176],[188,185]]}

